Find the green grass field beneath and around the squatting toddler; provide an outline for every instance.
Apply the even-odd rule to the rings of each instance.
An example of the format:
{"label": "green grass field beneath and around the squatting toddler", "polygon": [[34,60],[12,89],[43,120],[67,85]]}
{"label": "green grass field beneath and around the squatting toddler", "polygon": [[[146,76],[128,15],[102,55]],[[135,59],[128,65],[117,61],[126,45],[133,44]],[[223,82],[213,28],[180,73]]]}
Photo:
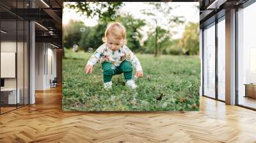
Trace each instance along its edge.
{"label": "green grass field beneath and around the squatting toddler", "polygon": [[100,63],[93,66],[92,74],[84,73],[91,55],[65,49],[63,110],[199,110],[199,56],[136,54],[144,73],[136,81],[136,91],[125,87],[123,75],[115,75],[113,89],[105,91]]}

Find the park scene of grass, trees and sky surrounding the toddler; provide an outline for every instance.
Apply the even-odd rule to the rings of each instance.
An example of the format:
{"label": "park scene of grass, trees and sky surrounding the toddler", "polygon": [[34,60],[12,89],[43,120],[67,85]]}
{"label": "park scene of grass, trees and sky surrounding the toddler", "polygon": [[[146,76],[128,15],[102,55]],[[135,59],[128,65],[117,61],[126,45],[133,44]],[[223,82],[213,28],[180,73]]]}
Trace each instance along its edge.
{"label": "park scene of grass, trees and sky surrounding the toddler", "polygon": [[[122,75],[104,91],[100,64],[84,73],[114,21],[127,29],[127,46],[143,67],[136,91],[124,86]],[[64,3],[63,45],[63,110],[199,109],[199,3]]]}

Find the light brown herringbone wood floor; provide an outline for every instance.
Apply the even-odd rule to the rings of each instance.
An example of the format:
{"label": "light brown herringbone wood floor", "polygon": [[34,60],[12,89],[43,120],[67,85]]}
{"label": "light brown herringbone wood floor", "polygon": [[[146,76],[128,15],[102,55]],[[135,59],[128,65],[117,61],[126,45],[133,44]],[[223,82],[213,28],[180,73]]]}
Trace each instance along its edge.
{"label": "light brown herringbone wood floor", "polygon": [[0,142],[256,142],[256,112],[200,98],[198,112],[62,112],[61,88],[0,116]]}

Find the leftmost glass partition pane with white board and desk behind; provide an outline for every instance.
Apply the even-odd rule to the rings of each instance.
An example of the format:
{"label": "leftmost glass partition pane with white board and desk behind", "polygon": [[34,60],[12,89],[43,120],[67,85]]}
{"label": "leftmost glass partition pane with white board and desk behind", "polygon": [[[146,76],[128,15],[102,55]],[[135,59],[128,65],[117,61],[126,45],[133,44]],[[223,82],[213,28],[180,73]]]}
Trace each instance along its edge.
{"label": "leftmost glass partition pane with white board and desk behind", "polygon": [[1,113],[4,113],[16,109],[20,100],[16,71],[17,21],[2,20],[1,31]]}

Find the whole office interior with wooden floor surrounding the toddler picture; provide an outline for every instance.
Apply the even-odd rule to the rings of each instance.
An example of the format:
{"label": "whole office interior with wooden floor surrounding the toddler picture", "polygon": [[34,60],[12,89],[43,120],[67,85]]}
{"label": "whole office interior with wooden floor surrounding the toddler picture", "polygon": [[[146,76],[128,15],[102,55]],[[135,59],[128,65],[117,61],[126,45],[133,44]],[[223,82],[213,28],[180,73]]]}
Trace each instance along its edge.
{"label": "whole office interior with wooden floor surrounding the toddler picture", "polygon": [[199,111],[63,112],[63,1],[1,0],[0,142],[255,142],[256,2],[189,2],[200,3]]}

